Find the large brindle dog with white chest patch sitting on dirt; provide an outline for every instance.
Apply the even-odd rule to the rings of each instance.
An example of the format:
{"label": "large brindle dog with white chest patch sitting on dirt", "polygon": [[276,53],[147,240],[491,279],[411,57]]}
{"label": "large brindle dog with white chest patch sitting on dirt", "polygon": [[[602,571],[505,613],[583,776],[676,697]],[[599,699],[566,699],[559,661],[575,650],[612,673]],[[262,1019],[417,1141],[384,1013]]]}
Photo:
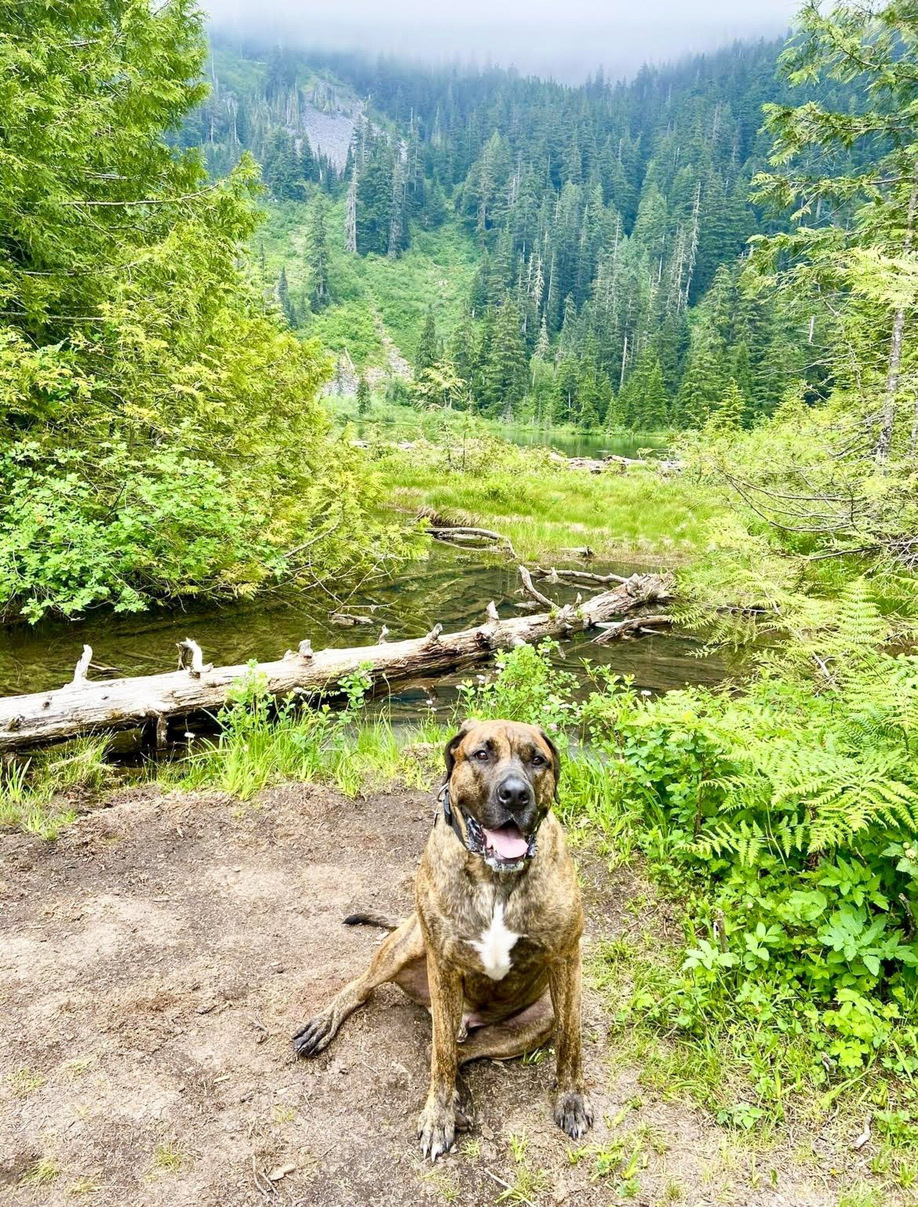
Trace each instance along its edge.
{"label": "large brindle dog with white chest patch sitting on dirt", "polygon": [[430,1091],[418,1135],[436,1160],[455,1138],[457,1069],[509,1060],[554,1032],[554,1119],[573,1139],[593,1123],[581,1071],[583,910],[564,832],[551,812],[560,765],[548,736],[510,721],[466,721],[446,748],[446,781],[422,856],[416,911],[362,976],[294,1037],[315,1056],[377,985],[395,981],[434,1020]]}

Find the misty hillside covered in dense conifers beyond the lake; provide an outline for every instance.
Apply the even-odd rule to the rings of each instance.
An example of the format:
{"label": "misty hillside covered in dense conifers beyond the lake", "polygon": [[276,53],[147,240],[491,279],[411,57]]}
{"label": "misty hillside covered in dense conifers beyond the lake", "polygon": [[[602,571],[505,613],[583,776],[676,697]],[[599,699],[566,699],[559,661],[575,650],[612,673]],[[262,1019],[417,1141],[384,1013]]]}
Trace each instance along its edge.
{"label": "misty hillside covered in dense conifers beyond the lake", "polygon": [[[377,272],[345,253],[366,266],[420,239],[461,291],[458,305],[432,291],[430,314],[416,307],[396,332],[422,396],[643,430],[701,426],[726,397],[751,422],[800,378],[814,393],[824,378],[806,307],[740,286],[749,237],[786,221],[749,199],[771,147],[762,104],[789,95],[778,51],[734,45],[574,88],[217,42],[214,89],[184,138],[216,169],[243,147],[262,162],[289,232],[269,246],[269,284],[294,325],[359,366],[379,351],[366,310],[348,314],[345,327],[368,328],[349,344],[330,316],[316,326]],[[820,94],[832,89],[844,103],[843,84]],[[327,142],[323,113],[338,146],[351,132],[337,169],[310,144],[310,132]]]}

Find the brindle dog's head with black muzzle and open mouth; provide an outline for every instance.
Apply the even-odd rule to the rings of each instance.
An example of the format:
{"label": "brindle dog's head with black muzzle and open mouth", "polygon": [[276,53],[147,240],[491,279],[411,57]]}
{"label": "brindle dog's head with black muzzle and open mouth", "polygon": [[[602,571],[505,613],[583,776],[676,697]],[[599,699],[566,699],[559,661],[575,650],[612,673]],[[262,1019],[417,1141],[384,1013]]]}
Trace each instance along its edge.
{"label": "brindle dog's head with black muzzle and open mouth", "polygon": [[560,759],[538,725],[466,721],[446,747],[449,799],[481,827],[486,863],[523,867],[558,791]]}

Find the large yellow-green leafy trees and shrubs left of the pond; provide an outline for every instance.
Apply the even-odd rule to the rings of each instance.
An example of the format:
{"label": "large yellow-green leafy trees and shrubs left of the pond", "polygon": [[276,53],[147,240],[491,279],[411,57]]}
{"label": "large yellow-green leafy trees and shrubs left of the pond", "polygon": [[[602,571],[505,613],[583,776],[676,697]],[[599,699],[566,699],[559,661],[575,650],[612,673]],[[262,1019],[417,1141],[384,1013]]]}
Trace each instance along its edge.
{"label": "large yellow-green leafy trees and shrubs left of the pond", "polygon": [[0,620],[251,593],[400,544],[330,436],[330,360],[251,279],[257,165],[209,182],[169,141],[205,56],[185,0],[0,12]]}

